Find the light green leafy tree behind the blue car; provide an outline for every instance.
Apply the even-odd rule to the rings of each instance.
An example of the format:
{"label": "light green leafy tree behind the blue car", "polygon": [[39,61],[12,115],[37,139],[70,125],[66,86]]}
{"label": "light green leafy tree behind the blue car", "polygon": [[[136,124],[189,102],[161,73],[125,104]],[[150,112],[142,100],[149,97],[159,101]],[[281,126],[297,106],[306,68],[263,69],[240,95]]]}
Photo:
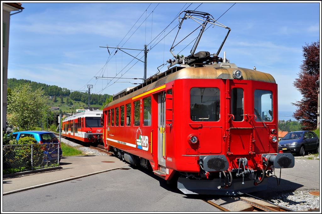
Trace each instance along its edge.
{"label": "light green leafy tree behind the blue car", "polygon": [[18,86],[12,91],[7,107],[8,123],[25,130],[38,126],[49,109],[47,101],[43,89],[33,90],[30,83]]}

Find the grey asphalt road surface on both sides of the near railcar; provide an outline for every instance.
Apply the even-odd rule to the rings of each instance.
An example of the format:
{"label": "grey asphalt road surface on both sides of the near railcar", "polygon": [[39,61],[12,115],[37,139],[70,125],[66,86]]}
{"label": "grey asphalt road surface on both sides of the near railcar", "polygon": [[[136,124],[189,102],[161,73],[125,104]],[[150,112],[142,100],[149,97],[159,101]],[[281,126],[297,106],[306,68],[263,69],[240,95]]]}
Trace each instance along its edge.
{"label": "grey asphalt road surface on both sides of the near railcar", "polygon": [[[282,169],[281,181],[268,179],[265,192],[251,195],[267,198],[279,192],[320,187],[320,161],[295,159],[294,168]],[[275,172],[279,177],[279,169]],[[186,196],[144,169],[114,170],[77,180],[3,196],[3,211],[64,212],[203,212],[219,211],[201,199]],[[211,199],[207,197],[208,199]]]}

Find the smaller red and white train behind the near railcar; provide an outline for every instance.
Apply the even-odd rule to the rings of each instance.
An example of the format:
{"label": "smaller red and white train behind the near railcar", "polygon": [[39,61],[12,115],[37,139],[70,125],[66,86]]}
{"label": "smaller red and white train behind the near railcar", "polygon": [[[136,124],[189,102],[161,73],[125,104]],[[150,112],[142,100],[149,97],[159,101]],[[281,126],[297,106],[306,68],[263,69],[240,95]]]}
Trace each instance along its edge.
{"label": "smaller red and white train behind the near railcar", "polygon": [[86,110],[62,121],[62,135],[85,143],[102,142],[101,110]]}

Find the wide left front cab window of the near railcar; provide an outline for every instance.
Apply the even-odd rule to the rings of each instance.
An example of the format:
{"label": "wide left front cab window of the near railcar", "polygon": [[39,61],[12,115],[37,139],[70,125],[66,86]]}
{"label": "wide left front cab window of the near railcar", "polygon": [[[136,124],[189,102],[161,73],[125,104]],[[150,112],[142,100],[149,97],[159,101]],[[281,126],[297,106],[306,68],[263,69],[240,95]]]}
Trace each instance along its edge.
{"label": "wide left front cab window of the near railcar", "polygon": [[218,88],[191,88],[190,119],[218,121],[220,118],[220,91]]}

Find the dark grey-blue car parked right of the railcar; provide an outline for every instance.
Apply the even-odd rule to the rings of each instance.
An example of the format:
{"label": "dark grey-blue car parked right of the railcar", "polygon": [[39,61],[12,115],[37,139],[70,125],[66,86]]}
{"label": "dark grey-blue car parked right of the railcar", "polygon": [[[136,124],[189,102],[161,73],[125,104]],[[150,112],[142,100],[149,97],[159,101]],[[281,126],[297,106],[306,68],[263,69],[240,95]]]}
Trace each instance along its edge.
{"label": "dark grey-blue car parked right of the railcar", "polygon": [[319,138],[311,131],[289,132],[279,141],[279,150],[301,156],[306,155],[307,151],[318,153]]}

